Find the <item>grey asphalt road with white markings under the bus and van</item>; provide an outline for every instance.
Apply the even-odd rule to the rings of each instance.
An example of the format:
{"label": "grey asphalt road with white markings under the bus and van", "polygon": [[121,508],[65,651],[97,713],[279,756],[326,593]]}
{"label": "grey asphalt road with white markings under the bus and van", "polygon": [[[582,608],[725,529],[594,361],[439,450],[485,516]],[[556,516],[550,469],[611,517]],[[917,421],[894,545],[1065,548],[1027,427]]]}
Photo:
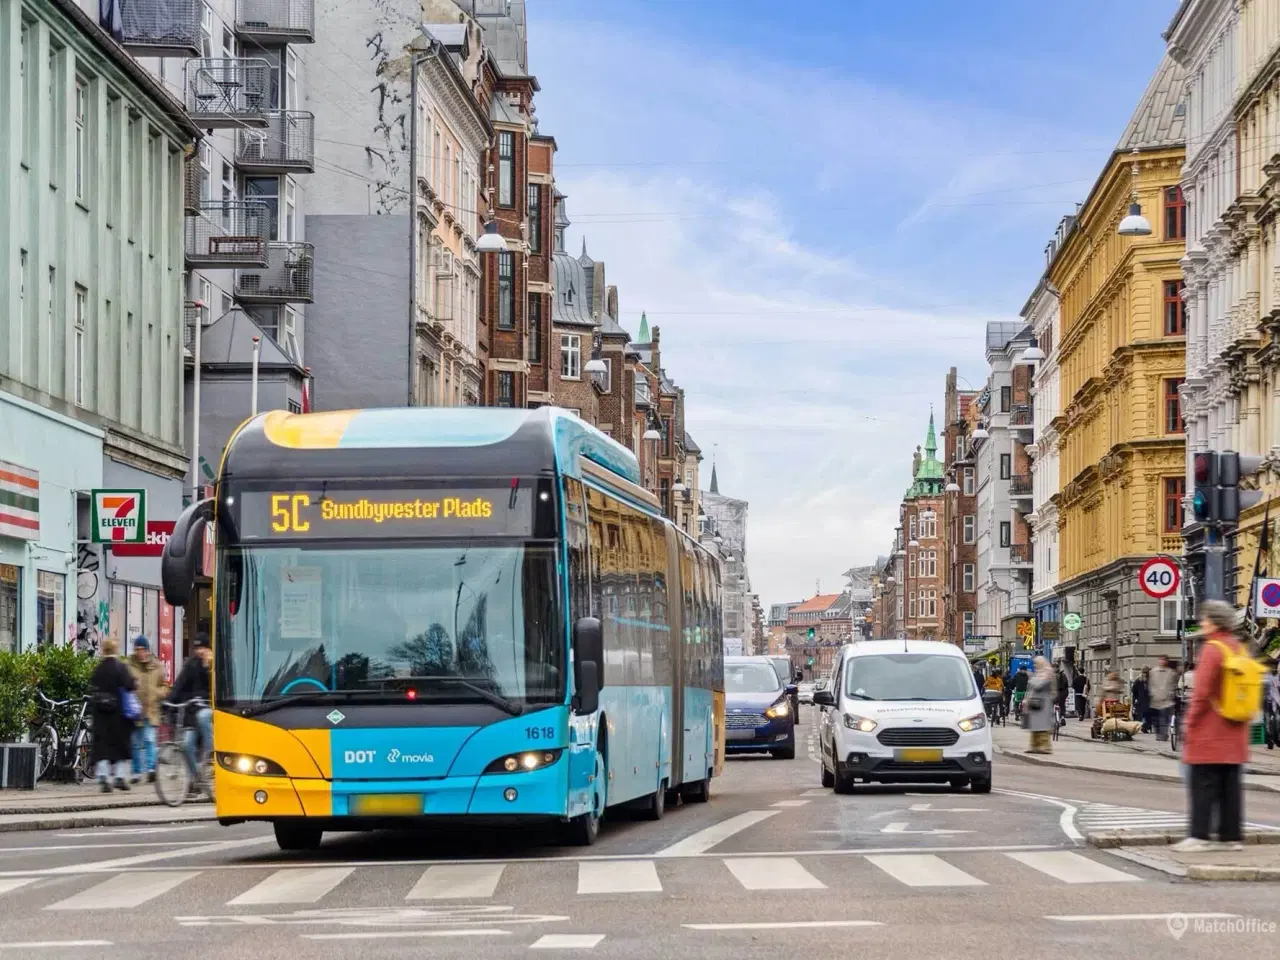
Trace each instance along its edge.
{"label": "grey asphalt road with white markings under the bus and van", "polygon": [[[421,956],[426,943],[467,960],[1078,960],[1280,947],[1274,929],[1196,929],[1210,914],[1280,919],[1274,884],[1175,882],[1076,842],[1087,817],[1175,817],[1178,785],[998,759],[986,796],[837,797],[801,750],[731,760],[716,786],[710,804],[658,823],[613,818],[589,850],[524,831],[338,835],[307,855],[282,855],[251,824],[5,833],[0,956],[346,960]],[[1248,803],[1252,820],[1280,826],[1280,797]],[[1170,914],[1188,916],[1180,937]]]}

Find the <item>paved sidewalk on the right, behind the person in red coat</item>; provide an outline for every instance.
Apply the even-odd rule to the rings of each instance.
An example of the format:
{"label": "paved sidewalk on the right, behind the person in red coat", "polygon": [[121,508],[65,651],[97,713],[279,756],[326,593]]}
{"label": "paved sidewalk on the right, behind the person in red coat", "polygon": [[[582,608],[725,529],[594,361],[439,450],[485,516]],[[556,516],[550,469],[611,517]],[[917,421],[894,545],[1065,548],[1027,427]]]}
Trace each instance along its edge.
{"label": "paved sidewalk on the right, behind the person in red coat", "polygon": [[[1110,773],[1116,777],[1137,777],[1138,780],[1160,780],[1170,783],[1183,782],[1181,764],[1167,751],[1153,749],[1134,749],[1133,744],[1111,744],[1088,739],[1088,724],[1079,723],[1084,736],[1073,736],[1068,727],[1075,721],[1068,721],[1062,736],[1053,742],[1053,753],[1028,754],[1029,737],[1025,730],[1010,723],[1006,727],[992,727],[992,741],[996,753],[1025,763],[1042,767]],[[1152,742],[1155,739],[1152,737]],[[1263,748],[1263,753],[1266,748]],[[1253,751],[1257,758],[1257,750]],[[1271,758],[1263,763],[1251,763],[1243,777],[1245,790],[1270,790],[1280,792],[1280,768]],[[1258,772],[1262,768],[1267,772]]]}

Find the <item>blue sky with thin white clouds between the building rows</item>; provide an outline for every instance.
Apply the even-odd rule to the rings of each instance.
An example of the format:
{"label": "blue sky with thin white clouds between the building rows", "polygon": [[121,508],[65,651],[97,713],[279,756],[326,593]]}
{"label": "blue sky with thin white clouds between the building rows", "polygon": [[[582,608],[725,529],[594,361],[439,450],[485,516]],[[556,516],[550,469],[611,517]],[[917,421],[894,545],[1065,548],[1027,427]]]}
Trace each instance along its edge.
{"label": "blue sky with thin white clouds between the building rows", "polygon": [[883,554],[947,369],[984,378],[1174,0],[530,0],[571,248],[662,329],[753,589]]}

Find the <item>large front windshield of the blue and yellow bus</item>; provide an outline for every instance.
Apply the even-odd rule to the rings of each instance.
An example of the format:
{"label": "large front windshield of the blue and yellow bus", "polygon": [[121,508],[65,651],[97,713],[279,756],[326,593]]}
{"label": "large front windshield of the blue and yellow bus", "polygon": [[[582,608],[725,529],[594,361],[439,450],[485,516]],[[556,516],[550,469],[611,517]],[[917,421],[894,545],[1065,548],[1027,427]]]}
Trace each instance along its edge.
{"label": "large front windshield of the blue and yellow bus", "polygon": [[218,605],[219,707],[564,698],[552,545],[227,548]]}

